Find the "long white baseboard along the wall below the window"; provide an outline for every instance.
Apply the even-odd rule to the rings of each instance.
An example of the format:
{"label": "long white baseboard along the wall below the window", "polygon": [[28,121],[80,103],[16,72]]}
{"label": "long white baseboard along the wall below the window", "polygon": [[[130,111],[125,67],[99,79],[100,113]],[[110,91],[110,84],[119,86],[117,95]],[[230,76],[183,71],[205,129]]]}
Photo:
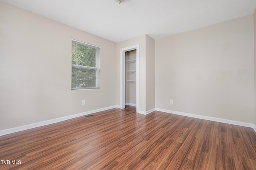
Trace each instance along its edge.
{"label": "long white baseboard along the wall below the window", "polygon": [[108,110],[108,109],[113,109],[113,108],[116,108],[116,107],[117,106],[104,107],[104,108],[100,108],[100,109],[86,111],[86,112],[83,112],[83,113],[68,115],[68,116],[64,116],[64,117],[60,117],[60,118],[56,118],[56,119],[51,119],[51,120],[47,120],[47,121],[41,121],[41,122],[38,122],[38,123],[32,123],[32,124],[29,124],[29,125],[24,125],[24,126],[19,126],[19,127],[14,127],[14,128],[10,128],[10,129],[1,130],[0,131],[0,136],[7,135],[7,134],[10,134],[10,133],[19,132],[19,131],[24,131],[24,130],[27,130],[27,129],[32,129],[32,128],[40,127],[40,126],[44,126],[44,125],[50,125],[52,123],[57,123],[57,122],[60,122],[60,121],[64,121],[64,120],[80,117],[80,116],[83,116],[83,115],[96,113],[96,112],[99,112],[99,111],[105,111],[105,110]]}

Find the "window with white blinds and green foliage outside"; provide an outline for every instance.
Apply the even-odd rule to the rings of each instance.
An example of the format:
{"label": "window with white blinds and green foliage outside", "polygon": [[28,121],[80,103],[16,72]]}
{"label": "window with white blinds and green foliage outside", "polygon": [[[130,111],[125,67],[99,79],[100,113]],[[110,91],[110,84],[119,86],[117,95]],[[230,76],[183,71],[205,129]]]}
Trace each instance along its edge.
{"label": "window with white blinds and green foliage outside", "polygon": [[99,49],[72,40],[72,90],[99,88]]}

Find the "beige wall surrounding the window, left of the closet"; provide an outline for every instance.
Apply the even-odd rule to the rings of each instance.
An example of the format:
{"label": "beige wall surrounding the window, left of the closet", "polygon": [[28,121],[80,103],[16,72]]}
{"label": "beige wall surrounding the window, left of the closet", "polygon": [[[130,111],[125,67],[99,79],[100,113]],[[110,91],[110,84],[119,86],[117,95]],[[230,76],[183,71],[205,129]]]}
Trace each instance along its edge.
{"label": "beige wall surrounding the window, left of the closet", "polygon": [[[116,43],[2,2],[0,23],[0,130],[116,105]],[[100,89],[71,90],[70,36],[102,46]]]}

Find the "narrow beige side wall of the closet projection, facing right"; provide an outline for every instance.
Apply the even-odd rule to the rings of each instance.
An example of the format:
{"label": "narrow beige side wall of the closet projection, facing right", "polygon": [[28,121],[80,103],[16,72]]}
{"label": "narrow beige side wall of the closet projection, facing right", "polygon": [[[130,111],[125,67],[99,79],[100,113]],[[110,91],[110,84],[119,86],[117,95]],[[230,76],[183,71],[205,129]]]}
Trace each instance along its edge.
{"label": "narrow beige side wall of the closet projection, facing right", "polygon": [[155,108],[155,40],[146,35],[146,111]]}

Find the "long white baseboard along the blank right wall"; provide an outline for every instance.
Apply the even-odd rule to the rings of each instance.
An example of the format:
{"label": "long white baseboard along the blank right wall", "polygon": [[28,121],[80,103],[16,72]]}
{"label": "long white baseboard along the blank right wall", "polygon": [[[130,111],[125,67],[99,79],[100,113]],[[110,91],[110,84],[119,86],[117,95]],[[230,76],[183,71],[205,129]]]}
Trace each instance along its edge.
{"label": "long white baseboard along the blank right wall", "polygon": [[256,126],[253,123],[246,123],[246,122],[242,122],[242,121],[221,119],[221,118],[217,118],[217,117],[196,115],[196,114],[191,114],[191,113],[184,113],[184,112],[180,112],[180,111],[172,111],[172,110],[159,109],[159,108],[156,108],[156,111],[162,111],[162,112],[166,112],[166,113],[172,113],[172,114],[176,114],[176,115],[194,117],[194,118],[210,120],[210,121],[217,121],[217,122],[221,122],[221,123],[228,123],[228,124],[232,124],[232,125],[251,127],[251,128],[254,128],[254,131],[256,131]]}

